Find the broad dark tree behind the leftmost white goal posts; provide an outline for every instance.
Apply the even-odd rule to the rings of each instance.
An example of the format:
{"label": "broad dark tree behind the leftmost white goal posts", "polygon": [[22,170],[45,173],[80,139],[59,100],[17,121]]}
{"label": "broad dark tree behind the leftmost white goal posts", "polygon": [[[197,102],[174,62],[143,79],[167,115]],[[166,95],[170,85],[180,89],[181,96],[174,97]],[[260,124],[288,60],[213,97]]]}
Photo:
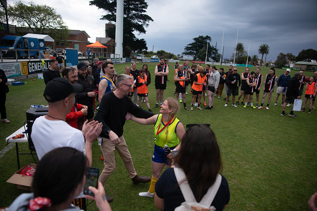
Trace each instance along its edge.
{"label": "broad dark tree behind the leftmost white goal posts", "polygon": [[208,42],[208,52],[207,57],[211,57],[213,60],[217,59],[218,49],[216,49],[214,46],[210,45],[211,37],[210,36],[198,36],[193,38],[194,42],[188,44],[184,48],[183,55],[192,56],[193,60],[197,59],[197,55],[199,53],[199,50],[205,47],[205,57],[202,60],[205,60],[206,58],[206,48],[207,48],[207,40]]}

